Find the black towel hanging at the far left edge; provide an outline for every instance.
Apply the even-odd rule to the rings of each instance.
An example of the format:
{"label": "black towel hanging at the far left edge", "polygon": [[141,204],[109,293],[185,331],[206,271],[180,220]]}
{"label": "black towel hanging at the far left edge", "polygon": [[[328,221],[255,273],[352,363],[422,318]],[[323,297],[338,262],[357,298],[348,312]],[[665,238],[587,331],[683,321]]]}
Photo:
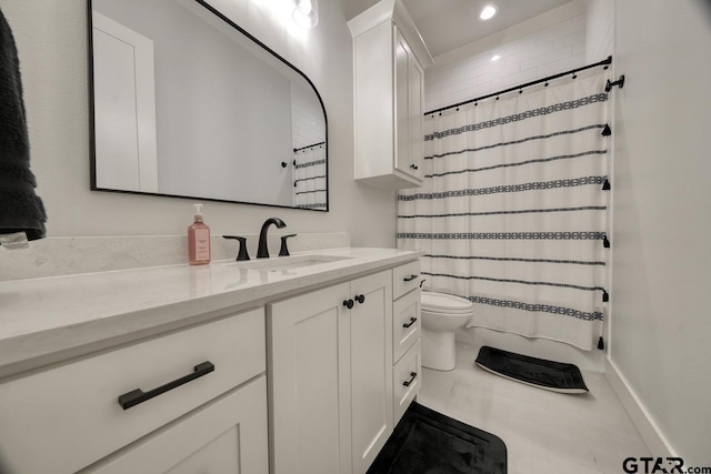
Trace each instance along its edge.
{"label": "black towel hanging at the far left edge", "polygon": [[34,193],[18,49],[0,10],[0,234],[44,236],[47,214]]}

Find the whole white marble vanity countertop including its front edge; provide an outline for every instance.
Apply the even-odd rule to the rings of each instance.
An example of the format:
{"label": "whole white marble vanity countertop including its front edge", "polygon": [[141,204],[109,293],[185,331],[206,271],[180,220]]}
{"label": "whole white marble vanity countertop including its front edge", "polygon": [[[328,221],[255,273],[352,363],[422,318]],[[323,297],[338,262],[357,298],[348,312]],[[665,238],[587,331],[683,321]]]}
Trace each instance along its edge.
{"label": "whole white marble vanity countertop including its front edge", "polygon": [[302,254],[343,260],[281,271],[223,260],[0,282],[0,376],[226,315],[228,309],[262,305],[423,252],[348,248],[293,255]]}

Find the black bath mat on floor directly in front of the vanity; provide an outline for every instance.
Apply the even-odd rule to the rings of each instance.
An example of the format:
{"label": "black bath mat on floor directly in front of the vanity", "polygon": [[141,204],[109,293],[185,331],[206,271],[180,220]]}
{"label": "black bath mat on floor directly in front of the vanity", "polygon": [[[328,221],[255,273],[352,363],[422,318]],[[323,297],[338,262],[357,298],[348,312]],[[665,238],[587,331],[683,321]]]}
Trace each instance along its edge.
{"label": "black bath mat on floor directly in front of the vanity", "polygon": [[505,474],[507,445],[493,434],[412,402],[368,474]]}

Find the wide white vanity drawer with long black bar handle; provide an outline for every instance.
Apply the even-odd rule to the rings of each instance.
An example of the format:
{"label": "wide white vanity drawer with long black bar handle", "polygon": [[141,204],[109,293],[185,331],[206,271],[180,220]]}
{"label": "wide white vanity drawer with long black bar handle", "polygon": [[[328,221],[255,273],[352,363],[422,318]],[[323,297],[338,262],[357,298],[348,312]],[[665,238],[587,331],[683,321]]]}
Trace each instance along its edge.
{"label": "wide white vanity drawer with long black bar handle", "polygon": [[[264,372],[264,323],[262,307],[0,384],[0,460],[24,474],[86,467]],[[203,376],[119,404],[208,361],[214,370]]]}

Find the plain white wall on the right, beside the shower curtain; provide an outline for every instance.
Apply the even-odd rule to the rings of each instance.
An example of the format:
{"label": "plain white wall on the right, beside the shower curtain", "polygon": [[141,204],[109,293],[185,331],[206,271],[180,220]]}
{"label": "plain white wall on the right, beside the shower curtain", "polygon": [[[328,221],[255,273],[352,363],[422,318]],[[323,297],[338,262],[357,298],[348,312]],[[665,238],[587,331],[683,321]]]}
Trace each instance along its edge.
{"label": "plain white wall on the right, beside the shower curtain", "polygon": [[610,359],[687,466],[711,465],[705,3],[618,1],[614,54]]}

